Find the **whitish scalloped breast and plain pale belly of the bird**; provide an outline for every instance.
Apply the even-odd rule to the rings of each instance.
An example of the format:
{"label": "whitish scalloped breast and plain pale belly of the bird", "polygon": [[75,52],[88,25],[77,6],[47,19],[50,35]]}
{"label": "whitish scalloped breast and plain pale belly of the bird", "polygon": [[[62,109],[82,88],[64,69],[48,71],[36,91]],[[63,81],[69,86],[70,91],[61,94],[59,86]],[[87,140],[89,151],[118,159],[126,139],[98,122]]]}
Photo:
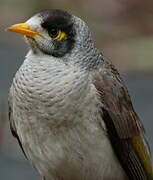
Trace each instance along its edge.
{"label": "whitish scalloped breast and plain pale belly of the bird", "polygon": [[111,171],[124,177],[88,73],[57,59],[30,56],[17,72],[11,91],[17,133],[41,175],[56,179],[62,165],[61,171],[72,168],[85,180],[93,179],[91,174],[100,180]]}

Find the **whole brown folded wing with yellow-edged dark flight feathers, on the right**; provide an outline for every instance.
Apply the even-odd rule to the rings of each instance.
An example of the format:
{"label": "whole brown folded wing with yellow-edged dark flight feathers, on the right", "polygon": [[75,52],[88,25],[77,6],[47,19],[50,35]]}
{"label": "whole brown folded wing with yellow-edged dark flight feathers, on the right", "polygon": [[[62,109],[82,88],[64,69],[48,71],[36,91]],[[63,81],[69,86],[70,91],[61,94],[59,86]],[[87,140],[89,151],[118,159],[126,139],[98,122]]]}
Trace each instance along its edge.
{"label": "whole brown folded wing with yellow-edged dark flight feathers, on the right", "polygon": [[92,72],[102,102],[101,116],[114,152],[131,180],[153,179],[144,128],[133,109],[124,83],[110,62]]}

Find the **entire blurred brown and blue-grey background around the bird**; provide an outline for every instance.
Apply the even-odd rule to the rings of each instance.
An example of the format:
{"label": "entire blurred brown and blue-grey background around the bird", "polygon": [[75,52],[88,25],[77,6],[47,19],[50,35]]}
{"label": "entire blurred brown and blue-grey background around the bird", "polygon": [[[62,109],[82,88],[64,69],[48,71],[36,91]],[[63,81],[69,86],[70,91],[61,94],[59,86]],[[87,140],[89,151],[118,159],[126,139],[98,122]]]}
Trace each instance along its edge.
{"label": "entire blurred brown and blue-grey background around the bird", "polygon": [[116,65],[129,89],[153,152],[153,1],[0,0],[0,175],[4,180],[38,180],[12,137],[7,96],[28,51],[22,36],[6,33],[44,9],[64,9],[82,17],[99,49]]}

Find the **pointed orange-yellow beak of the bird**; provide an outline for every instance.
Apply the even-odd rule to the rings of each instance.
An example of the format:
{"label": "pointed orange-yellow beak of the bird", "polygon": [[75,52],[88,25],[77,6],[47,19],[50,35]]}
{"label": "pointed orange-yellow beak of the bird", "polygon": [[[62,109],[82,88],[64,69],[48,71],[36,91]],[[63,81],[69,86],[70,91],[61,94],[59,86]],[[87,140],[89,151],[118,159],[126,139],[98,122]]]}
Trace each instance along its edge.
{"label": "pointed orange-yellow beak of the bird", "polygon": [[12,25],[8,29],[6,29],[6,31],[16,32],[32,38],[35,37],[36,35],[40,35],[37,31],[31,30],[29,25],[26,23]]}

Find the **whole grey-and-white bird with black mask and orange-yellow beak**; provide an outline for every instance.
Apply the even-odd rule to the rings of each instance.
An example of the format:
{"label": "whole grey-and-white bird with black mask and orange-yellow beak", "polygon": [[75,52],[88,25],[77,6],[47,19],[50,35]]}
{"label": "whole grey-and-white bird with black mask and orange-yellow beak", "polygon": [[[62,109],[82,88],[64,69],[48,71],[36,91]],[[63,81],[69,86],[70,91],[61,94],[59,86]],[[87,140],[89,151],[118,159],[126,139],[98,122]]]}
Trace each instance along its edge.
{"label": "whole grey-and-white bird with black mask and orange-yellow beak", "polygon": [[85,21],[44,10],[7,31],[29,47],[10,87],[10,127],[42,179],[152,180],[143,124]]}

